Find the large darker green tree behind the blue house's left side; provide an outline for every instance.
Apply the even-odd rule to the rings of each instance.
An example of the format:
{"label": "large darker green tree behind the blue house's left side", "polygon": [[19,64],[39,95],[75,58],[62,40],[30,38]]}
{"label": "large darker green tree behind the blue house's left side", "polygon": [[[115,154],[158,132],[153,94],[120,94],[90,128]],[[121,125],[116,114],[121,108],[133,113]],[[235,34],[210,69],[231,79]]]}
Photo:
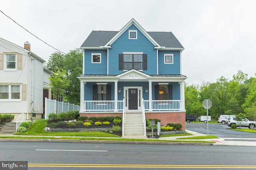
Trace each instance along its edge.
{"label": "large darker green tree behind the blue house's left side", "polygon": [[70,80],[66,91],[66,99],[69,103],[80,105],[80,80],[77,76],[82,74],[82,49],[70,50],[66,55],[55,52],[50,57],[46,68],[57,72],[59,68],[66,70],[67,78]]}

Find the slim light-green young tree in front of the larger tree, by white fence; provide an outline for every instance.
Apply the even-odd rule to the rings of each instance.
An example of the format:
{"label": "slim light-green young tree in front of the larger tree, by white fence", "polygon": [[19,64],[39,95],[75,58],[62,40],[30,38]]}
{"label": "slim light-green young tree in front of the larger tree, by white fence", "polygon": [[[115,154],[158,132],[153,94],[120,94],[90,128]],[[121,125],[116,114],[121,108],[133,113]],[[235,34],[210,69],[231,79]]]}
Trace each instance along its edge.
{"label": "slim light-green young tree in front of the larger tree, by white fence", "polygon": [[[65,88],[69,86],[69,80],[67,78],[66,70],[63,70],[62,68],[57,68],[57,71],[51,74],[50,77],[48,77],[50,80],[50,86],[52,88],[53,96],[54,98],[59,98],[59,96],[62,96],[65,92]],[[58,104],[56,107],[56,114],[58,114]]]}

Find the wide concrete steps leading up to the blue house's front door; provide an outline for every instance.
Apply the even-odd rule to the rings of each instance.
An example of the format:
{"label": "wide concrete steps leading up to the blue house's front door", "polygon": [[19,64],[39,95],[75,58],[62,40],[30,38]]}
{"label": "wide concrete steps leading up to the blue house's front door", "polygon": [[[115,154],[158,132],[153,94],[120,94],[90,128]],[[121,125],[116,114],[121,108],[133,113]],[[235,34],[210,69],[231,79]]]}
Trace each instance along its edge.
{"label": "wide concrete steps leading up to the blue house's front door", "polygon": [[124,136],[144,135],[142,113],[126,113]]}

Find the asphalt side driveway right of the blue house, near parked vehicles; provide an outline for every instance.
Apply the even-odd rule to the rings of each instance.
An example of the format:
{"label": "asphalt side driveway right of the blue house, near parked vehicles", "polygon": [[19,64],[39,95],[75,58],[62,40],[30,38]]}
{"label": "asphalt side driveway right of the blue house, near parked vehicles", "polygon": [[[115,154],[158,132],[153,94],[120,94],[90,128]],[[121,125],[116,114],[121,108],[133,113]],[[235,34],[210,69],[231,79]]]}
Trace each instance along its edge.
{"label": "asphalt side driveway right of the blue house, near parked vehicles", "polygon": [[[248,127],[241,127],[248,129]],[[186,123],[186,129],[207,135],[207,123]],[[223,138],[225,141],[254,141],[256,142],[256,134],[232,131],[228,125],[221,123],[209,123],[209,135],[214,135]]]}

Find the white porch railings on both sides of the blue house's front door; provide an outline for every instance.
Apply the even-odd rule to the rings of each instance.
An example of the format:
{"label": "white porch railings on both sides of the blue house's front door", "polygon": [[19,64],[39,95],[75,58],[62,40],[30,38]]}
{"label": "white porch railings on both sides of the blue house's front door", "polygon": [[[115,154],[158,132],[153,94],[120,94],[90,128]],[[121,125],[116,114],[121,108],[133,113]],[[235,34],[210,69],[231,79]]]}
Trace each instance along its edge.
{"label": "white porch railings on both sides of the blue house's front door", "polygon": [[[115,107],[114,100],[86,100],[83,102],[83,111],[123,111],[125,102],[123,100],[117,101]],[[143,100],[145,111],[170,111],[182,110],[182,100]]]}

